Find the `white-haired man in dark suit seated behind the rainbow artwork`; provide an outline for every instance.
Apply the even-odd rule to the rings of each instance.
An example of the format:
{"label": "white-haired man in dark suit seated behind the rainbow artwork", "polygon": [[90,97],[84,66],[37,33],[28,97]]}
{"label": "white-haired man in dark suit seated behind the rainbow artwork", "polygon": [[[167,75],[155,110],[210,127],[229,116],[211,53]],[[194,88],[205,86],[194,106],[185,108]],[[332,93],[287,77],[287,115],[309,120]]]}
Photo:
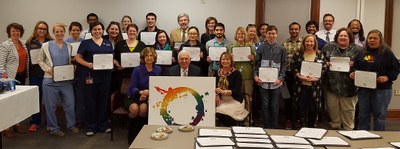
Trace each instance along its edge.
{"label": "white-haired man in dark suit seated behind the rainbow artwork", "polygon": [[168,69],[169,76],[201,76],[200,68],[190,64],[191,57],[187,50],[178,53],[179,65],[172,66]]}

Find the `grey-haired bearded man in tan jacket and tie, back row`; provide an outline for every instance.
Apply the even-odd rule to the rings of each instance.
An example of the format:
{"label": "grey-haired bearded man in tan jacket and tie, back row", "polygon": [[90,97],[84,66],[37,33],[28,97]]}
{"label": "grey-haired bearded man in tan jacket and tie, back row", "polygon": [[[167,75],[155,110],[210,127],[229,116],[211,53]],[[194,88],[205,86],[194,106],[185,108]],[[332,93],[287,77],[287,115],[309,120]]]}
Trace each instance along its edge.
{"label": "grey-haired bearded man in tan jacket and tie, back row", "polygon": [[[178,15],[178,24],[179,28],[176,28],[171,31],[171,45],[175,47],[175,43],[183,43],[186,42],[188,38],[188,27],[189,27],[189,15],[186,13],[181,13]],[[179,47],[175,47],[175,50],[178,50]]]}

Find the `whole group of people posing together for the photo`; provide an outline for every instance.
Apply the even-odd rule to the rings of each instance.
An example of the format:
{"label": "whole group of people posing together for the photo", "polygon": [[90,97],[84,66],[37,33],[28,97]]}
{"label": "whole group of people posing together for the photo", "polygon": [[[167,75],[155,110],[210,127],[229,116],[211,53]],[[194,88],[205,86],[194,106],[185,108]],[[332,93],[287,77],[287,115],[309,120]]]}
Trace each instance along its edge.
{"label": "whole group of people posing together for the photo", "polygon": [[[168,33],[156,26],[157,16],[146,15],[147,26],[139,31],[130,16],[124,16],[121,24],[110,22],[107,28],[98,21],[98,16],[87,16],[89,29],[83,31],[79,22],[69,25],[70,38],[65,38],[66,26],[57,23],[53,26],[53,37],[49,26],[39,21],[25,42],[22,25],[11,23],[7,26],[9,40],[0,45],[0,70],[7,76],[40,89],[40,101],[46,109],[46,128],[50,134],[64,136],[57,124],[57,98],[62,101],[67,120],[67,130],[79,132],[77,123],[84,123],[87,136],[97,132],[110,132],[108,109],[110,94],[119,91],[122,82],[129,82],[124,98],[124,108],[129,111],[132,122],[129,125],[128,141],[131,142],[147,123],[149,77],[150,76],[204,76],[215,77],[215,102],[218,124],[239,125],[242,121],[252,121],[247,117],[254,102],[261,104],[264,128],[279,128],[279,100],[283,90],[286,129],[315,127],[318,115],[327,108],[332,129],[351,130],[370,129],[371,113],[374,117],[374,130],[385,130],[385,117],[392,95],[392,83],[397,79],[400,64],[391,49],[384,43],[379,30],[370,31],[364,36],[359,20],[349,22],[348,27],[333,29],[335,18],[332,14],[323,17],[324,29],[318,30],[318,23],[308,21],[307,35],[300,37],[301,25],[289,25],[290,38],[279,43],[278,29],[266,23],[246,28],[238,27],[234,39],[225,37],[225,26],[216,18],[205,21],[206,32],[200,35],[199,29],[189,26],[189,16],[179,14],[179,27]],[[107,34],[104,35],[106,32]],[[154,45],[141,41],[141,33],[156,32]],[[123,37],[126,33],[127,37]],[[90,35],[89,39],[84,39]],[[80,42],[77,54],[71,55],[70,43]],[[219,60],[212,60],[209,53],[214,47],[225,47]],[[248,48],[246,61],[234,61],[237,48]],[[200,49],[199,60],[192,61],[190,48]],[[156,50],[172,51],[171,65],[156,65]],[[32,53],[38,52],[37,60]],[[140,65],[124,68],[121,65],[122,53],[140,53]],[[93,56],[113,54],[112,70],[94,70]],[[330,70],[332,57],[348,57],[350,70],[339,72]],[[321,76],[301,74],[303,62],[321,65]],[[54,81],[54,66],[74,65],[75,79]],[[276,71],[277,78],[262,80],[262,69]],[[275,70],[274,70],[275,69]],[[375,89],[354,85],[354,71],[377,73]],[[28,84],[28,83],[27,83]],[[210,84],[211,85],[211,84]],[[253,95],[254,93],[254,95]],[[253,99],[253,100],[252,100]],[[358,104],[358,117],[356,115]],[[358,125],[355,126],[355,121]],[[40,126],[40,113],[32,115],[29,131]],[[16,130],[24,130],[17,124]],[[15,137],[11,128],[3,131],[7,137]]]}

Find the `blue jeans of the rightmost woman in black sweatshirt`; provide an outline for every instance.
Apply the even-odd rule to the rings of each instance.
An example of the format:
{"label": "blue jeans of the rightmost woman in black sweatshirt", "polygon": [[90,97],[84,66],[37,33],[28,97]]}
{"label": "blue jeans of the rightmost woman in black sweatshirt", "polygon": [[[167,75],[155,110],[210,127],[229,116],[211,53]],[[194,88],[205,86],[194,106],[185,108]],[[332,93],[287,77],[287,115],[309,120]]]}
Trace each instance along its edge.
{"label": "blue jeans of the rightmost woman in black sweatshirt", "polygon": [[361,88],[358,91],[358,129],[370,130],[371,113],[374,117],[374,130],[385,130],[386,113],[392,99],[392,90]]}

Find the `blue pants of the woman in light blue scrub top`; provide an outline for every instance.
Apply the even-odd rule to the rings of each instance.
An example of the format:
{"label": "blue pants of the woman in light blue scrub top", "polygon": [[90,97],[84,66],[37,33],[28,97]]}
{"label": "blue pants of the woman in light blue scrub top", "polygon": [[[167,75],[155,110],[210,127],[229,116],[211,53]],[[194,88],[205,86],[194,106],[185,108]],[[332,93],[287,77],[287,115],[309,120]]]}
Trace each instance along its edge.
{"label": "blue pants of the woman in light blue scrub top", "polygon": [[57,124],[57,99],[60,97],[65,117],[67,120],[67,129],[75,126],[75,96],[72,84],[66,86],[51,86],[43,83],[43,102],[46,108],[46,122],[50,133],[60,130]]}

